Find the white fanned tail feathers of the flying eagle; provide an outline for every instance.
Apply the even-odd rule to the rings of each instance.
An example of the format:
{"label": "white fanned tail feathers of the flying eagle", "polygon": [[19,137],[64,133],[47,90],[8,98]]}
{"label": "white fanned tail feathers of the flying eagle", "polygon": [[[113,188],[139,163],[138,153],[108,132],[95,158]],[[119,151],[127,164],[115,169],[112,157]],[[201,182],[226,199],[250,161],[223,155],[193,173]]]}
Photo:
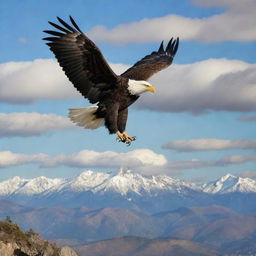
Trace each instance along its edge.
{"label": "white fanned tail feathers of the flying eagle", "polygon": [[95,115],[97,109],[98,106],[71,108],[68,117],[73,123],[85,129],[97,129],[104,124],[104,118],[98,118]]}

